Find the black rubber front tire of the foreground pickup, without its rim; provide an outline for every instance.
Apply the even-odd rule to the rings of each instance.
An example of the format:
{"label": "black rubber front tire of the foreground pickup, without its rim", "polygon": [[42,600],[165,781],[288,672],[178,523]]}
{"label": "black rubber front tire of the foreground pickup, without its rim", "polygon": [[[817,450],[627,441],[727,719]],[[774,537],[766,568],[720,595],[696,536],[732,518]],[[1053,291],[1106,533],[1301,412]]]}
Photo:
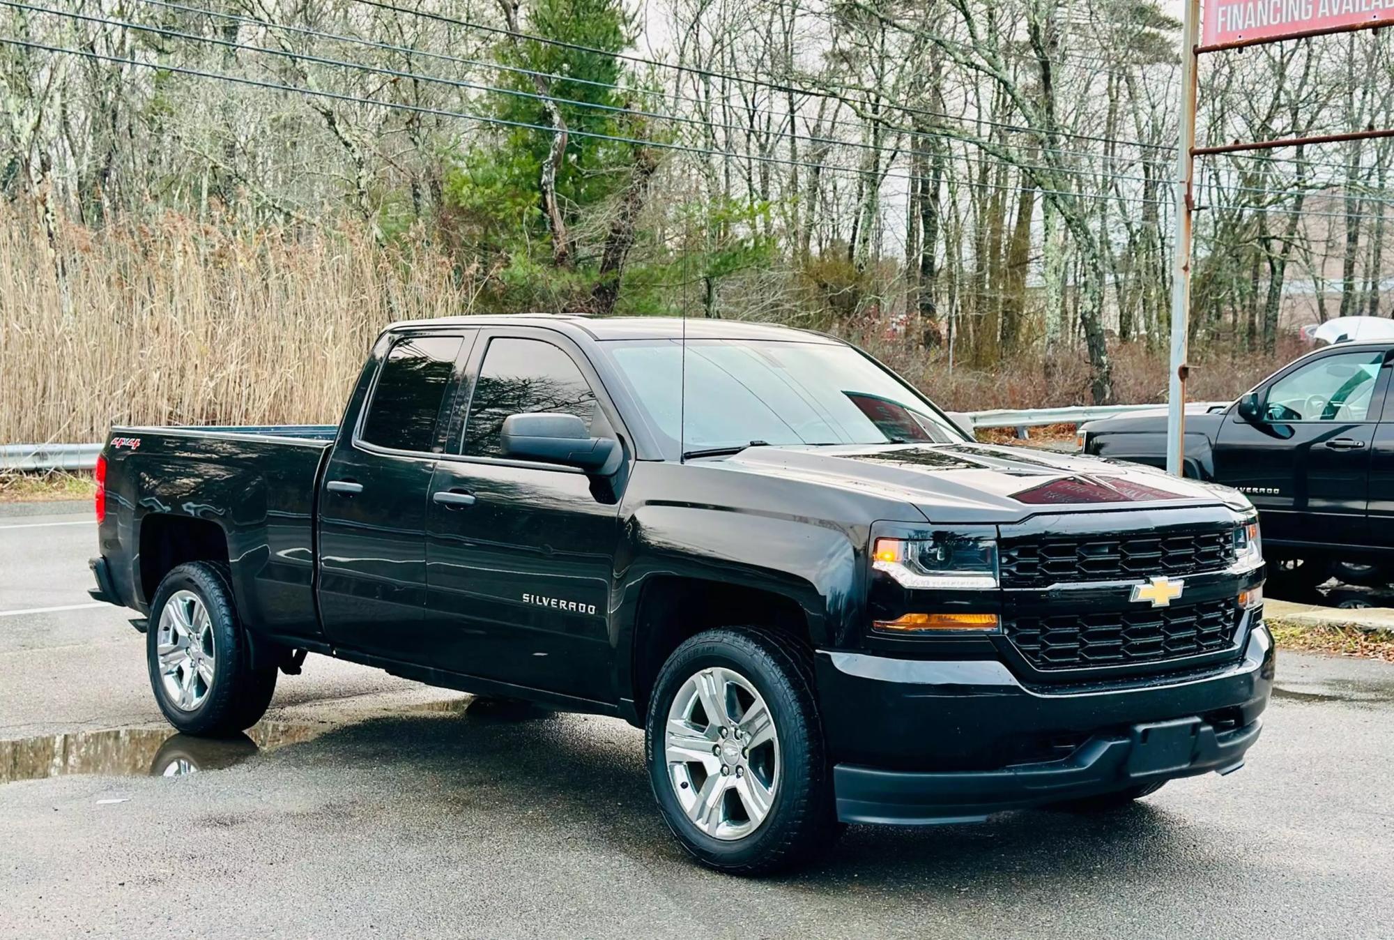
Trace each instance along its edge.
{"label": "black rubber front tire of the foreground pickup, without its rim", "polygon": [[[779,748],[779,785],[768,814],[736,840],[708,835],[683,810],[665,757],[669,708],[689,678],[708,667],[733,669],[764,699]],[[697,861],[730,874],[765,874],[803,865],[842,831],[836,821],[832,770],[814,697],[813,657],[796,639],[751,628],[693,636],[664,664],[645,721],[650,784],[668,828]]]}

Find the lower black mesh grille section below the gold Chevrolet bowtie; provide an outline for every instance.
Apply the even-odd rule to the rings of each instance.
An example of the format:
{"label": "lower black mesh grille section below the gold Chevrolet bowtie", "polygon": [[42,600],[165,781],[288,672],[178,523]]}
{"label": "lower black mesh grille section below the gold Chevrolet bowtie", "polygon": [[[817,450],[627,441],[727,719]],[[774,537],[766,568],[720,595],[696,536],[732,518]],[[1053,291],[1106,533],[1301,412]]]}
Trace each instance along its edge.
{"label": "lower black mesh grille section below the gold Chevrolet bowtie", "polygon": [[1037,669],[1143,665],[1218,653],[1243,611],[1234,600],[1111,614],[1008,616],[1006,637]]}

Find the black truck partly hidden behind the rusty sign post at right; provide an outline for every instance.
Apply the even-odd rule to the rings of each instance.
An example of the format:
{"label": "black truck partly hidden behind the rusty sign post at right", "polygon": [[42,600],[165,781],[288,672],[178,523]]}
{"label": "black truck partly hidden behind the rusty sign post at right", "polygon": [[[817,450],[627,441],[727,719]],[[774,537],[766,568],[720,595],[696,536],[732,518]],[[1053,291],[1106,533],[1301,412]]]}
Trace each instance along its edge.
{"label": "black truck partly hidden behind the rusty sign post at right", "polygon": [[[1338,343],[1186,414],[1186,476],[1248,494],[1274,577],[1394,577],[1391,365],[1394,342]],[[1167,463],[1165,411],[1090,421],[1080,437],[1085,453]]]}

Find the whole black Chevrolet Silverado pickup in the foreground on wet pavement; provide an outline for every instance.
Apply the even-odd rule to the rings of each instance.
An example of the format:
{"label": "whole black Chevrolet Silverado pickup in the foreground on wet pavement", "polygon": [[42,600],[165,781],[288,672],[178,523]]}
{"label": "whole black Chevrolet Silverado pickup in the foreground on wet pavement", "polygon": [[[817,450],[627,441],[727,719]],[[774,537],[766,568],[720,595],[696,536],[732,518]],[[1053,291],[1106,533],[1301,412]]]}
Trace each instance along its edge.
{"label": "whole black Chevrolet Silverado pickup in the foreground on wet pavement", "polygon": [[340,427],[114,428],[99,477],[95,593],[178,729],[307,651],[619,715],[728,872],[1230,773],[1273,683],[1241,494],[974,444],[811,332],[399,324]]}

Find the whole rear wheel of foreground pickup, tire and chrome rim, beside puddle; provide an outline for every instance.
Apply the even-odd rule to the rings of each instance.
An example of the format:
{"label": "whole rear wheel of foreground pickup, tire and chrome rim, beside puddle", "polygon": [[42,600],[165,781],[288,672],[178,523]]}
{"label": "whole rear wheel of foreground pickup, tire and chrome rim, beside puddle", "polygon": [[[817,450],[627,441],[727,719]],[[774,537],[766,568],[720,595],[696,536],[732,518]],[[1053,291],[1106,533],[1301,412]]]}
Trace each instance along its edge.
{"label": "whole rear wheel of foreground pickup, tire and chrome rim, beside puddle", "polygon": [[227,568],[191,562],[155,591],[145,655],[155,702],[190,735],[234,735],[256,724],[276,692],[276,667],[251,668]]}

